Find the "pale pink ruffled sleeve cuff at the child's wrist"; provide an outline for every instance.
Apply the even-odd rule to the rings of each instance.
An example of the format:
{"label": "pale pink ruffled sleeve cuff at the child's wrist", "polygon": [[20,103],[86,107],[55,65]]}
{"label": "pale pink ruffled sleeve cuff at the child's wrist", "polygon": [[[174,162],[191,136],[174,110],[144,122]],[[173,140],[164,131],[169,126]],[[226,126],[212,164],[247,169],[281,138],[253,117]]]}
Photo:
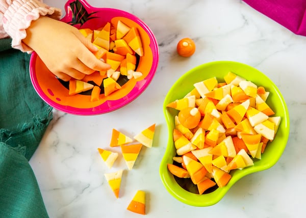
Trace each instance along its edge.
{"label": "pale pink ruffled sleeve cuff at the child's wrist", "polygon": [[0,38],[9,36],[13,48],[32,52],[30,47],[22,43],[22,39],[27,36],[25,30],[32,20],[37,20],[39,16],[60,19],[61,10],[39,0],[0,0]]}

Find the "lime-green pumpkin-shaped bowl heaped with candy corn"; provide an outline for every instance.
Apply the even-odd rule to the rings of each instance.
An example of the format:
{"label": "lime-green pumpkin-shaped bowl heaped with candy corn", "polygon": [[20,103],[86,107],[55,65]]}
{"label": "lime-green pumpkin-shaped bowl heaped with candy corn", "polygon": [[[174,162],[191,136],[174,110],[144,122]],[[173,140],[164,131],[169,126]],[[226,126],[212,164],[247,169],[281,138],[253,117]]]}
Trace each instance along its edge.
{"label": "lime-green pumpkin-shaped bowl heaped with candy corn", "polygon": [[[274,140],[268,143],[261,159],[253,159],[254,165],[251,167],[246,167],[242,170],[232,170],[230,172],[232,178],[225,186],[215,187],[210,192],[199,195],[192,191],[194,185],[191,184],[192,182],[190,179],[177,178],[167,169],[167,163],[173,163],[172,157],[176,155],[176,149],[173,142],[173,129],[175,128],[174,117],[178,114],[177,110],[167,107],[167,104],[176,99],[183,98],[194,88],[193,84],[199,81],[211,77],[216,77],[219,82],[224,81],[223,77],[229,71],[244,77],[246,80],[252,81],[252,83],[257,86],[263,86],[266,91],[270,92],[266,103],[275,112],[274,116],[281,117],[281,123],[279,124]],[[218,203],[226,192],[242,177],[271,168],[283,154],[289,138],[289,113],[281,92],[265,74],[242,63],[216,61],[191,69],[173,84],[165,97],[163,111],[169,136],[166,151],[160,165],[160,177],[165,188],[174,198],[192,206],[203,207],[214,205]]]}

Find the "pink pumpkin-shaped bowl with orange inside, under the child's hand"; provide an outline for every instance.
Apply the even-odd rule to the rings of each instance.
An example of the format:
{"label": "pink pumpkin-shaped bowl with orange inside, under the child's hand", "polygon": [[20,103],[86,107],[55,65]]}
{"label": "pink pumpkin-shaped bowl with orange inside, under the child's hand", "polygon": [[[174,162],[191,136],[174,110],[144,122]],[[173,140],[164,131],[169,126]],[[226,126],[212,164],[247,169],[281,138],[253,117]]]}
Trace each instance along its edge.
{"label": "pink pumpkin-shaped bowl with orange inside, under the child's hand", "polygon": [[38,95],[57,110],[74,115],[109,113],[136,99],[150,84],[159,62],[158,43],[150,28],[133,14],[113,8],[94,8],[85,0],[69,0],[65,4],[65,11],[66,15],[62,21],[78,29],[100,30],[106,23],[116,25],[119,20],[130,28],[136,28],[144,55],[141,57],[136,55],[135,71],[141,72],[142,76],[128,79],[127,76],[121,75],[117,80],[121,89],[107,96],[103,92],[102,81],[105,76],[102,77],[99,72],[85,76],[86,82],[98,84],[102,90],[99,99],[91,101],[91,90],[69,95],[69,81],[58,79],[47,69],[37,53],[33,52],[30,60],[30,76]]}

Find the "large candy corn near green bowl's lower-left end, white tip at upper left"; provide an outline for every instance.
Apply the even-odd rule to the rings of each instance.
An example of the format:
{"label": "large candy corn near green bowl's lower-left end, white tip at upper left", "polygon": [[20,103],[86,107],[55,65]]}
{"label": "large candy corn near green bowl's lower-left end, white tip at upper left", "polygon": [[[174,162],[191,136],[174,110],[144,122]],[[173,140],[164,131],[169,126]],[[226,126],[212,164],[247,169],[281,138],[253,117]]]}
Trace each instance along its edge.
{"label": "large candy corn near green bowl's lower-left end, white tip at upper left", "polygon": [[183,162],[185,163],[186,169],[190,175],[191,181],[194,184],[198,184],[207,174],[206,168],[202,163],[184,155]]}

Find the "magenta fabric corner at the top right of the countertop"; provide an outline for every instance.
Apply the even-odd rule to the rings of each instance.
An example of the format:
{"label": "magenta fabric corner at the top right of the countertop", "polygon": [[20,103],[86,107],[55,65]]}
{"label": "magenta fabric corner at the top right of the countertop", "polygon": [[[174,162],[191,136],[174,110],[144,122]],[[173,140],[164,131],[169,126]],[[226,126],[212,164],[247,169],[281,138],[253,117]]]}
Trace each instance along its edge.
{"label": "magenta fabric corner at the top right of the countertop", "polygon": [[295,34],[306,36],[305,0],[243,0],[246,4],[285,26]]}

